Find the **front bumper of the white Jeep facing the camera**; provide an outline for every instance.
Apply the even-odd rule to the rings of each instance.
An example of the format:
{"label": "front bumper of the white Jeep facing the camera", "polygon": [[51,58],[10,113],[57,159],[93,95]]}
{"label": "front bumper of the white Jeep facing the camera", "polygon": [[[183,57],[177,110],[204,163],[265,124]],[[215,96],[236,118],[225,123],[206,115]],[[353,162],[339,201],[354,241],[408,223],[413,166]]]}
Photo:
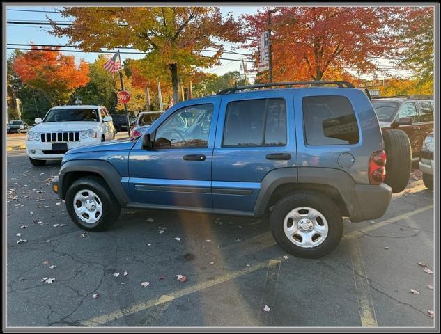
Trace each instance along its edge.
{"label": "front bumper of the white Jeep facing the camera", "polygon": [[[98,144],[101,138],[82,138],[81,141],[75,141],[68,144],[68,150],[79,148],[80,146]],[[43,152],[46,151],[46,152]],[[41,143],[40,141],[26,141],[26,152],[32,159],[36,160],[61,160],[65,153],[54,153],[52,143]]]}

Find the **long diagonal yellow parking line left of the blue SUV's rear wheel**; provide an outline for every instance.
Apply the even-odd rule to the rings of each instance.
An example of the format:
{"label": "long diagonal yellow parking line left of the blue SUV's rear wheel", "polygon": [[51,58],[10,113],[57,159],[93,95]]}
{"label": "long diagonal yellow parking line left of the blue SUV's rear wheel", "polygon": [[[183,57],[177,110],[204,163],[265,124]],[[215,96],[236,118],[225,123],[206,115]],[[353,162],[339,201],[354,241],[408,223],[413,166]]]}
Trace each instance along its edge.
{"label": "long diagonal yellow parking line left of the blue SUV's rear wheel", "polygon": [[208,287],[212,287],[214,285],[219,285],[221,283],[228,282],[229,280],[233,280],[235,278],[245,276],[247,273],[252,273],[254,271],[258,271],[268,266],[267,262],[261,262],[259,264],[255,264],[254,266],[246,267],[245,269],[233,271],[232,273],[227,273],[224,276],[220,276],[215,280],[210,280],[206,282],[201,282],[185,289],[179,290],[178,292],[174,292],[173,294],[161,296],[159,299],[150,299],[148,301],[142,301],[141,303],[137,303],[127,308],[122,308],[121,310],[116,310],[114,312],[110,312],[107,315],[101,315],[99,317],[94,317],[92,319],[88,319],[87,321],[82,321],[82,326],[98,326],[100,324],[106,324],[109,321],[119,319],[121,317],[125,317],[125,315],[131,315],[133,313],[146,310],[156,305],[160,305],[162,303],[167,303],[169,301],[173,301],[174,299],[178,299],[187,294],[192,294],[193,292],[199,292],[203,289],[207,289]]}

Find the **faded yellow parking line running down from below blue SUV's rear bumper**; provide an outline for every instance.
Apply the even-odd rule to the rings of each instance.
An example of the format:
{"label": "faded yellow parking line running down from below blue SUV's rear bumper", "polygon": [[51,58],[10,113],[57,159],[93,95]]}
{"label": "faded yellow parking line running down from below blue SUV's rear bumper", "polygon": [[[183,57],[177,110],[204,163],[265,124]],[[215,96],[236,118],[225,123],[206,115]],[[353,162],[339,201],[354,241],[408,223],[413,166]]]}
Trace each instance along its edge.
{"label": "faded yellow parking line running down from below blue SUV's rear bumper", "polygon": [[362,327],[378,327],[375,310],[371,299],[371,289],[367,280],[366,269],[362,257],[362,251],[359,249],[355,240],[349,241],[350,261],[355,271],[355,289],[357,290],[357,301]]}

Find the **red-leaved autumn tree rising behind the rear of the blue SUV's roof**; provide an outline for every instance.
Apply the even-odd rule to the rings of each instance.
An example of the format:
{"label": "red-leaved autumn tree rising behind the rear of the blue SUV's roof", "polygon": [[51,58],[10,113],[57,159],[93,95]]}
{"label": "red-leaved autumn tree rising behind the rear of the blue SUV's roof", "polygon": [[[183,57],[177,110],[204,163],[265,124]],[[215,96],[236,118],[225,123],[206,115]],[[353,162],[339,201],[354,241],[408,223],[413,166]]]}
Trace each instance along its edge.
{"label": "red-leaved autumn tree rising behind the rear of the blue SUV's roof", "polygon": [[[248,46],[255,50],[256,38],[268,30],[268,10],[242,17],[247,22],[245,38],[252,40]],[[394,35],[387,28],[396,12],[385,7],[275,8],[271,24],[274,81],[321,80],[330,69],[375,70],[375,57],[394,48]]]}

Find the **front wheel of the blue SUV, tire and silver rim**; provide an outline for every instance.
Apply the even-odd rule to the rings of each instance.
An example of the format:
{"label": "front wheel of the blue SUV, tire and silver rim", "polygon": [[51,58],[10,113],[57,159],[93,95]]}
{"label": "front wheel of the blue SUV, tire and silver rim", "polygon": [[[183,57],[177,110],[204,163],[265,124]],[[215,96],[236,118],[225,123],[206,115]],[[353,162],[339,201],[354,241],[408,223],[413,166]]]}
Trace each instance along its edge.
{"label": "front wheel of the blue SUV, tire and silver rim", "polygon": [[100,177],[82,177],[66,193],[66,208],[72,221],[88,231],[107,230],[114,225],[121,207]]}

